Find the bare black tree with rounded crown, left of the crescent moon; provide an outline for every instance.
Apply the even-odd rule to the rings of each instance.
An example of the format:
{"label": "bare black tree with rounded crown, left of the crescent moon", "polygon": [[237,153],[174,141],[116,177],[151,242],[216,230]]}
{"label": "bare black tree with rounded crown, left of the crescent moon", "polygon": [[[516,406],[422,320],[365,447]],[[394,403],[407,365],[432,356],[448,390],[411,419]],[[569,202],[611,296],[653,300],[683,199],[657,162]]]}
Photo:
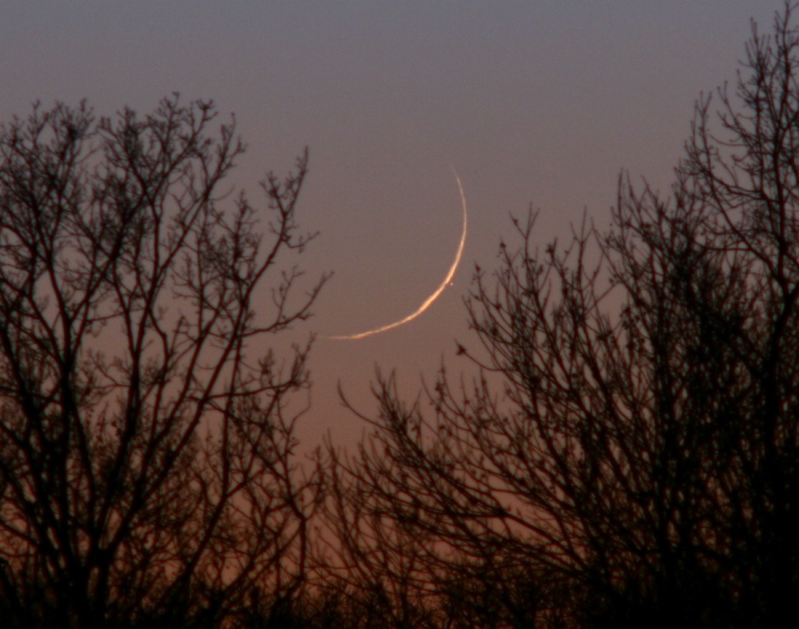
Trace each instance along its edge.
{"label": "bare black tree with rounded crown, left of the crescent moon", "polygon": [[4,622],[217,625],[302,583],[309,346],[266,343],[324,280],[290,266],[307,154],[256,208],[223,188],[244,147],[216,117],[175,96],[0,127]]}

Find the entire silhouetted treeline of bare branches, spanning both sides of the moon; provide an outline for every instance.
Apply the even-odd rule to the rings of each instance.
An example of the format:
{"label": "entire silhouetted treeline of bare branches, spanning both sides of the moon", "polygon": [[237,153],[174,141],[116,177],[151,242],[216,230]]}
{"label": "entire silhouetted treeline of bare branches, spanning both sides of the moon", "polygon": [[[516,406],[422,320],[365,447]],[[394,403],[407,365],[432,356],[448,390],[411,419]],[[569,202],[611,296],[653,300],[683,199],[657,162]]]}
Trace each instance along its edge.
{"label": "entire silhouetted treeline of bare branches, spanning both sides of the moon", "polygon": [[378,376],[371,434],[313,466],[289,413],[310,345],[253,344],[325,280],[291,266],[307,156],[255,203],[225,195],[243,146],[210,103],[4,124],[2,625],[783,625],[794,8],[698,101],[668,195],[622,175],[611,227],[542,251],[534,214],[514,223],[467,299],[478,378],[442,370],[407,404]]}

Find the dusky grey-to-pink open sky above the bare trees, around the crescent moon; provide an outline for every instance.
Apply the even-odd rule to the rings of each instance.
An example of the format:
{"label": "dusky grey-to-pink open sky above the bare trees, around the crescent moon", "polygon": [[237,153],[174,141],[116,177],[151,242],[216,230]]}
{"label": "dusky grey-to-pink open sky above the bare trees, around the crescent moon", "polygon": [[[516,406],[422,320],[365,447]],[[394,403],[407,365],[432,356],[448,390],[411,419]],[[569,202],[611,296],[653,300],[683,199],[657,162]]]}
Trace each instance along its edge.
{"label": "dusky grey-to-pink open sky above the bare trees, around the crescent moon", "polygon": [[[781,0],[526,2],[125,2],[3,0],[0,119],[34,100],[100,114],[145,113],[171,92],[235,113],[249,150],[237,185],[257,198],[265,171],[306,145],[299,219],[318,230],[311,275],[335,271],[298,338],[313,349],[306,445],[364,426],[375,366],[415,392],[455,338],[473,345],[463,296],[475,261],[494,268],[510,214],[541,209],[535,242],[566,238],[583,211],[605,226],[622,169],[665,189],[700,92],[732,81],[754,18],[771,30]],[[420,318],[359,341],[435,290],[460,235],[455,286]],[[411,395],[412,397],[412,395]]]}

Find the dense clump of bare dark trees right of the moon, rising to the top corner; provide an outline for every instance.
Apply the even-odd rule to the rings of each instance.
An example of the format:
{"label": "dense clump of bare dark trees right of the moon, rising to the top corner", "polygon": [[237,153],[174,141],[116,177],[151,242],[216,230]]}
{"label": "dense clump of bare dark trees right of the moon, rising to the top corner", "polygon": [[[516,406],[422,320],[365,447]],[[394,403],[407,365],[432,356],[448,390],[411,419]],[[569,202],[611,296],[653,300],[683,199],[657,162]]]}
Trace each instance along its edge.
{"label": "dense clump of bare dark trees right of the moon, rising to the top corner", "polygon": [[[376,431],[331,474],[328,522],[352,583],[370,578],[352,567],[376,557],[385,578],[413,561],[416,592],[430,591],[450,626],[469,624],[459,604],[489,626],[793,617],[793,8],[771,36],[753,25],[732,94],[699,100],[669,195],[623,176],[607,231],[584,223],[565,248],[538,251],[531,216],[516,223],[518,249],[501,245],[495,275],[478,267],[467,306],[481,348],[460,349],[477,381],[442,371],[425,411],[379,378]],[[360,522],[381,534],[347,537]],[[392,544],[403,538],[421,547]],[[471,580],[453,588],[464,570]],[[494,599],[494,620],[472,593]]]}

